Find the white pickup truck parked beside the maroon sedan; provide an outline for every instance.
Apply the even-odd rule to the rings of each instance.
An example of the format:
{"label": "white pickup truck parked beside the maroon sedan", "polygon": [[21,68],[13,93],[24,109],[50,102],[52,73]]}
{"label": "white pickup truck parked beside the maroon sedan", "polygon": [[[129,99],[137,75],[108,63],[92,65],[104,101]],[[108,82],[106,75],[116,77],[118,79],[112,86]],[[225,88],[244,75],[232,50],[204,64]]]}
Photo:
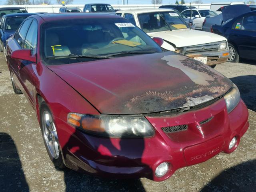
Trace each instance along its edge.
{"label": "white pickup truck parked beside the maroon sedan", "polygon": [[227,39],[209,32],[189,29],[186,22],[170,9],[117,11],[149,36],[164,40],[162,48],[184,54],[214,68],[229,56]]}

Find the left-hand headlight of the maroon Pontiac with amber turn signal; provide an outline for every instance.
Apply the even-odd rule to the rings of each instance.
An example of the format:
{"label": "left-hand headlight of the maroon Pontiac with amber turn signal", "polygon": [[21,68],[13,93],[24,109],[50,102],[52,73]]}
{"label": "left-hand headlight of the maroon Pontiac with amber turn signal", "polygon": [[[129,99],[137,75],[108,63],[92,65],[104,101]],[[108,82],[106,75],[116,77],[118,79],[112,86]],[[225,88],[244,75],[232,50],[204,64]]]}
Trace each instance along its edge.
{"label": "left-hand headlight of the maroon Pontiac with amber turn signal", "polygon": [[68,123],[88,133],[106,137],[149,137],[154,135],[144,116],[68,114]]}

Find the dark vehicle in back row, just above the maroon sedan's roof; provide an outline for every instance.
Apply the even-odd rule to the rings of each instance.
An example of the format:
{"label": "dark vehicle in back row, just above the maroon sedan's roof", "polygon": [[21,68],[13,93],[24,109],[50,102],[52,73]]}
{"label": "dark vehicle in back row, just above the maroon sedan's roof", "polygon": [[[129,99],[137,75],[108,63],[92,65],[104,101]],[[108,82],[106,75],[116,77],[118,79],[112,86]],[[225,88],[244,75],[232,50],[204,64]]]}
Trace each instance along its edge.
{"label": "dark vehicle in back row, just above the maroon sedan's roof", "polygon": [[110,4],[93,3],[93,4],[85,4],[83,12],[84,13],[103,12],[103,13],[115,14],[116,10],[114,10],[114,8]]}

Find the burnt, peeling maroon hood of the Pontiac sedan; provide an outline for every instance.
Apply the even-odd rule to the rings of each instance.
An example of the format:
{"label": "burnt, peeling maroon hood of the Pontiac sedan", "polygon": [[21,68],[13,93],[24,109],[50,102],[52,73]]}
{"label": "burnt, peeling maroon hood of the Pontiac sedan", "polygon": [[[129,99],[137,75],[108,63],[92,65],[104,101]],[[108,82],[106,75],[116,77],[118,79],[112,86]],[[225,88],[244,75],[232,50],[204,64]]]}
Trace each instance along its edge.
{"label": "burnt, peeling maroon hood of the Pontiac sedan", "polygon": [[222,96],[232,82],[196,60],[164,52],[49,66],[103,114],[190,107]]}

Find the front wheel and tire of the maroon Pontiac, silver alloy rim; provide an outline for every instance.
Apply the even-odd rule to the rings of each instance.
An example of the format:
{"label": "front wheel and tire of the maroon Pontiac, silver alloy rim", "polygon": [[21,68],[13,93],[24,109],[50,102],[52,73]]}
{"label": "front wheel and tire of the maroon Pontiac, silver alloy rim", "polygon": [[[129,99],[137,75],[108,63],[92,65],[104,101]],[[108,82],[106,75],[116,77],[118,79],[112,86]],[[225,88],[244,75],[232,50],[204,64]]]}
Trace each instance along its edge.
{"label": "front wheel and tire of the maroon Pontiac, silver alloy rim", "polygon": [[60,144],[52,113],[45,102],[40,106],[40,128],[47,153],[56,169],[64,169],[66,166],[62,160]]}

